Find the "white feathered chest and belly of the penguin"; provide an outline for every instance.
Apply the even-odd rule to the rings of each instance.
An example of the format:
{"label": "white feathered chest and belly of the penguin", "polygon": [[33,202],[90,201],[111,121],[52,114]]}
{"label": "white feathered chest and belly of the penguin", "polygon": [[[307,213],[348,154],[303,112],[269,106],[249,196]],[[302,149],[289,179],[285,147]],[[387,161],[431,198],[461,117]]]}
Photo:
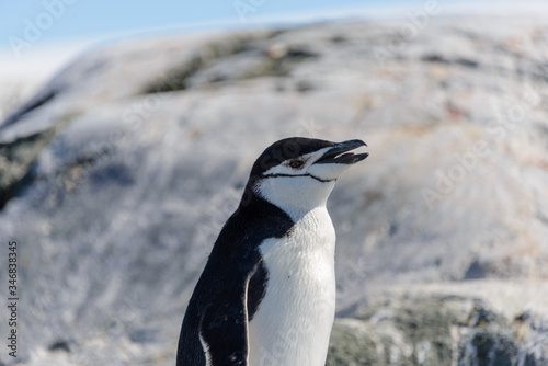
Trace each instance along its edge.
{"label": "white feathered chest and belly of the penguin", "polygon": [[266,294],[249,324],[249,365],[323,366],[335,311],[335,232],[324,207],[260,249]]}

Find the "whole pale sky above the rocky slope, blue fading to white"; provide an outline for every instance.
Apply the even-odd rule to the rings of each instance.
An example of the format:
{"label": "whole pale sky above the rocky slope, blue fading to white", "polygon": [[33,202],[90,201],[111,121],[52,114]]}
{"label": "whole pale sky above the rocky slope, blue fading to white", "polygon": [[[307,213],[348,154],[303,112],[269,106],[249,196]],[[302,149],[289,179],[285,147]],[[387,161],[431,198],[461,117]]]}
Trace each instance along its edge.
{"label": "whole pale sky above the rocky slope, blue fading to white", "polygon": [[[424,9],[429,1],[442,9],[466,3],[466,0],[0,0],[0,78],[45,78],[91,46],[125,37],[332,19],[404,18]],[[481,1],[471,3],[478,8]],[[499,9],[500,4],[498,1],[486,11]]]}

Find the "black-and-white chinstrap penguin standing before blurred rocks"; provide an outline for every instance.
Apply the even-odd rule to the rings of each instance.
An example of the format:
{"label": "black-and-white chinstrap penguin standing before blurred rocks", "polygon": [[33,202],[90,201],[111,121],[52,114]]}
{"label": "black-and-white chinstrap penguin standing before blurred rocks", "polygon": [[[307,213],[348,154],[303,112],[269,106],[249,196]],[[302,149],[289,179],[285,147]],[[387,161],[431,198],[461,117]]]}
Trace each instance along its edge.
{"label": "black-and-white chinstrap penguin standing before blurred rocks", "polygon": [[178,366],[323,366],[335,313],[335,231],[326,208],[362,140],[292,137],[251,168],[181,327]]}

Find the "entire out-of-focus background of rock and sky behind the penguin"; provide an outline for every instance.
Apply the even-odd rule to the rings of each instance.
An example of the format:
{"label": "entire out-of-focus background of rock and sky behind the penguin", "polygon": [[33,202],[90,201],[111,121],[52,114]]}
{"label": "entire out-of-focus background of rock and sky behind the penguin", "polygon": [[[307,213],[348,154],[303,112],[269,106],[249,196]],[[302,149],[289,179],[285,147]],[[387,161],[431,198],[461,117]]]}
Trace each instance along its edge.
{"label": "entire out-of-focus background of rock and sky behind the penguin", "polygon": [[0,1],[0,365],[173,365],[289,136],[370,153],[328,205],[328,365],[548,365],[545,2]]}

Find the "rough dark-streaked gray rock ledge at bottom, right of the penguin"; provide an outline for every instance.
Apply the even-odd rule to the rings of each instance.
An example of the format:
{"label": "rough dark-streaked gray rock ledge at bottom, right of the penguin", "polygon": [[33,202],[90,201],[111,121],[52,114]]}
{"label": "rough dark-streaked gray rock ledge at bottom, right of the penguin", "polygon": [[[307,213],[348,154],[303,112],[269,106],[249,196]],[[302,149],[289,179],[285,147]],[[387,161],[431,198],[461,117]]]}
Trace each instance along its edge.
{"label": "rough dark-streaked gray rock ledge at bottom, right of the penguin", "polygon": [[[431,294],[432,295],[432,294]],[[479,299],[391,296],[339,319],[327,365],[545,365],[547,323]],[[540,324],[540,328],[539,328]],[[535,339],[537,342],[532,342]]]}

